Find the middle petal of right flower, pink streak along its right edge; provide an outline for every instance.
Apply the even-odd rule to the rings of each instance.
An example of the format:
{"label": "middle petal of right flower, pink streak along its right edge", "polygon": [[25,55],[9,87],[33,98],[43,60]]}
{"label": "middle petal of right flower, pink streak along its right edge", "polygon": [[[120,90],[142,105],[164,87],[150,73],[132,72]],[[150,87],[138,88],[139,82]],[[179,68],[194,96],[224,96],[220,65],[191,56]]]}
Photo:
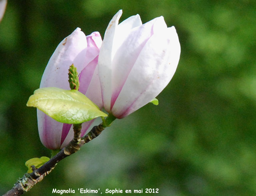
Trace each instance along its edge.
{"label": "middle petal of right flower, pink streak along its right edge", "polygon": [[155,29],[155,26],[161,28],[161,32],[166,31],[167,29],[163,17],[154,18],[138,28],[134,28],[116,52],[112,62],[111,110],[142,48],[152,36],[153,32],[156,31],[153,30],[153,28]]}

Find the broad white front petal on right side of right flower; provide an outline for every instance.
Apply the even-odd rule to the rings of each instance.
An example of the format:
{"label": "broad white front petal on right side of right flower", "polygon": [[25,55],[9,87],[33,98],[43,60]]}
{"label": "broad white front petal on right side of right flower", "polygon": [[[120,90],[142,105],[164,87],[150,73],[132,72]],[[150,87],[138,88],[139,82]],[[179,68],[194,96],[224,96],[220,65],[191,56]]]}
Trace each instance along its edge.
{"label": "broad white front petal on right side of right flower", "polygon": [[124,118],[155,98],[172,79],[179,56],[180,44],[175,28],[153,35],[140,52],[112,114]]}

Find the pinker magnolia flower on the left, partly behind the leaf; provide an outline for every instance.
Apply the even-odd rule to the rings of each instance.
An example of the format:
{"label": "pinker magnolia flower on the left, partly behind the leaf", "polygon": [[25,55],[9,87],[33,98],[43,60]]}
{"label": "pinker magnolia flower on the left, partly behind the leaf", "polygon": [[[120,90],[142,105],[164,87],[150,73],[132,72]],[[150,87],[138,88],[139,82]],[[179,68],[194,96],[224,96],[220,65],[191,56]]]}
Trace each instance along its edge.
{"label": "pinker magnolia flower on the left, partly behind the leaf", "polygon": [[[58,87],[69,90],[68,69],[74,64],[80,73],[79,91],[102,108],[100,81],[96,69],[101,44],[102,39],[98,32],[85,36],[80,28],[76,28],[60,42],[52,54],[44,70],[40,88]],[[37,110],[37,117],[40,140],[46,148],[61,149],[72,140],[72,124],[57,122],[40,110]],[[91,120],[82,124],[82,136],[92,122]]]}

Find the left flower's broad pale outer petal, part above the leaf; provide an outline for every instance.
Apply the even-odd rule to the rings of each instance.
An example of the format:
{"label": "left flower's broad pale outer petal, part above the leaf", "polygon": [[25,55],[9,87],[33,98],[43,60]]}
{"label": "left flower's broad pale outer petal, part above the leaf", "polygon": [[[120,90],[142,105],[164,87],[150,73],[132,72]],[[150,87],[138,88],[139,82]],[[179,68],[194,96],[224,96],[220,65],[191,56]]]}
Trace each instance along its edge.
{"label": "left flower's broad pale outer petal, part above the leaf", "polygon": [[42,76],[40,88],[58,87],[69,89],[68,69],[74,64],[80,73],[85,66],[87,41],[80,28],[66,37],[52,54]]}

